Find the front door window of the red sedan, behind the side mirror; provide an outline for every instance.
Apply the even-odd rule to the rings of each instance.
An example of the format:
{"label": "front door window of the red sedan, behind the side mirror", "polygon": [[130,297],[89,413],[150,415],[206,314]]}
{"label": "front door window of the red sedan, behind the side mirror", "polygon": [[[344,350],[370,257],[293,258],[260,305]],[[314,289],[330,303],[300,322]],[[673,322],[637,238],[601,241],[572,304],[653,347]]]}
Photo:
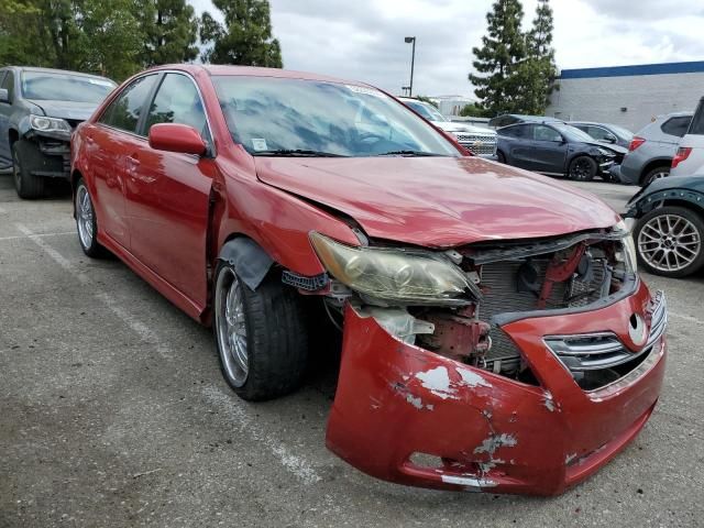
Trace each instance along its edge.
{"label": "front door window of the red sedan, behind the side mirror", "polygon": [[188,124],[206,136],[206,112],[200,95],[185,75],[167,74],[164,77],[146,117],[146,133],[157,123]]}

